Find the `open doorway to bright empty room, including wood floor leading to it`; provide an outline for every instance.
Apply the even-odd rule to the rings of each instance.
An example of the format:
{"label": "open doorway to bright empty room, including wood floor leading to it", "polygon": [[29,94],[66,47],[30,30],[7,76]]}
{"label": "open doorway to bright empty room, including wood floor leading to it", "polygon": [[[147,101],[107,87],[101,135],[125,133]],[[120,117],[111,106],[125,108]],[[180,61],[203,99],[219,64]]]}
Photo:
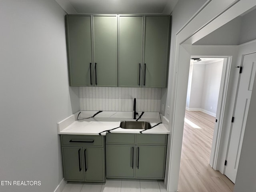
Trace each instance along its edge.
{"label": "open doorway to bright empty room, including wood floor leading to it", "polygon": [[233,191],[234,184],[209,165],[225,70],[224,58],[192,57],[190,60],[178,184],[180,192]]}

